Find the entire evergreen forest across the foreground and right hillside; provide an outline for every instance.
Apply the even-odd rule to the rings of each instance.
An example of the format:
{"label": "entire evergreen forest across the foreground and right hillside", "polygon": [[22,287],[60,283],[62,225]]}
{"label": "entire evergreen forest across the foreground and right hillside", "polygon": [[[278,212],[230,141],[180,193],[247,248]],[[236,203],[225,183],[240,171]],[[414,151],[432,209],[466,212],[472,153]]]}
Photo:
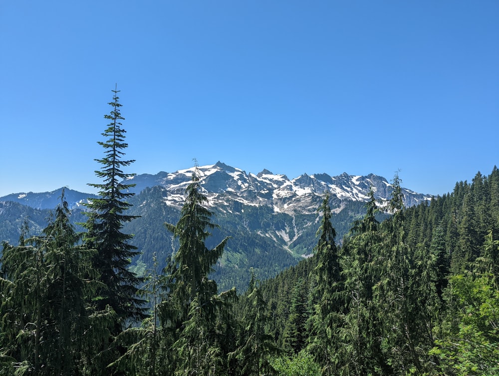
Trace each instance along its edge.
{"label": "entire evergreen forest across the foreground and right hillside", "polygon": [[0,376],[499,374],[497,167],[413,207],[396,173],[342,239],[326,194],[313,257],[267,280],[248,270],[246,291],[212,279],[231,234],[209,241],[220,229],[195,169],[161,224],[176,251],[137,275],[118,92],[82,222],[62,192],[41,232],[26,221],[2,244]]}

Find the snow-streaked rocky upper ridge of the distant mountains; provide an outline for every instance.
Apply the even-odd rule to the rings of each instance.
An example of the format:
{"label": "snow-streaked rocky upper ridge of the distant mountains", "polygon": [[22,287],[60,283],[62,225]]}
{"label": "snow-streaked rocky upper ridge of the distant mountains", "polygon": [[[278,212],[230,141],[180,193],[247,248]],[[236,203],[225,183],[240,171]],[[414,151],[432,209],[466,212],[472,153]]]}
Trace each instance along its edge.
{"label": "snow-streaked rocky upper ridge of the distant mountains", "polygon": [[[256,175],[247,173],[222,162],[197,168],[201,187],[210,205],[220,210],[223,210],[224,206],[230,206],[231,201],[238,201],[246,205],[270,206],[276,213],[310,214],[317,210],[317,199],[330,192],[331,207],[339,211],[342,202],[367,201],[371,187],[376,199],[380,201],[389,199],[392,192],[391,184],[385,178],[374,174],[303,174],[290,180],[286,175],[275,175],[268,170]],[[173,173],[136,175],[130,178],[127,184],[136,184],[131,189],[135,193],[140,193],[146,187],[161,186],[168,193],[165,195],[165,202],[180,208],[184,203],[184,191],[191,182],[194,169],[195,167]],[[405,188],[403,194],[406,206],[416,205],[431,198],[430,195]]]}

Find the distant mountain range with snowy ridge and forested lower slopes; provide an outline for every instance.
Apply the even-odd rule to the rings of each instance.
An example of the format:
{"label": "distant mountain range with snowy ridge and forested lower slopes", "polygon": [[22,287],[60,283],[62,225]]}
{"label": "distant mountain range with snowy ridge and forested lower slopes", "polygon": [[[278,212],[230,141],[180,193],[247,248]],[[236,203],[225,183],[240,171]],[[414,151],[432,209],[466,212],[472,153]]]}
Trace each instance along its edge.
{"label": "distant mountain range with snowy ridge and forested lower slopes", "polygon": [[[296,264],[301,257],[311,255],[317,242],[317,208],[325,192],[330,192],[332,222],[338,241],[348,232],[352,222],[364,215],[371,187],[380,205],[390,198],[392,192],[391,184],[374,174],[303,174],[290,180],[286,175],[274,175],[268,170],[258,174],[246,173],[222,162],[198,169],[209,209],[215,213],[213,221],[220,225],[208,238],[208,246],[231,236],[214,273],[221,289],[234,285],[240,291],[244,290],[251,267],[258,278],[265,279]],[[141,216],[124,226],[125,232],[135,235],[132,243],[142,252],[139,258],[133,260],[135,272],[143,273],[150,268],[154,254],[161,263],[177,249],[176,241],[163,224],[177,223],[184,204],[185,188],[191,182],[193,171],[194,167],[172,173],[140,174],[126,181],[127,184],[136,184],[130,189],[136,195],[130,199],[133,206],[129,214]],[[33,215],[28,213],[28,209],[21,210],[21,207],[35,210],[32,213],[38,214],[37,221],[31,218],[33,228],[43,228],[45,223],[39,223],[39,211],[53,209],[59,203],[60,194],[59,189],[1,197],[0,240],[16,240],[14,227],[19,225],[20,228],[23,215]],[[403,194],[406,206],[431,198],[406,188],[403,188]],[[81,204],[93,197],[66,189],[66,200],[73,209],[75,222],[85,220]],[[17,215],[16,210],[10,210],[6,218],[1,207],[6,205],[12,209],[12,205],[7,203],[9,201],[22,205],[17,207]]]}

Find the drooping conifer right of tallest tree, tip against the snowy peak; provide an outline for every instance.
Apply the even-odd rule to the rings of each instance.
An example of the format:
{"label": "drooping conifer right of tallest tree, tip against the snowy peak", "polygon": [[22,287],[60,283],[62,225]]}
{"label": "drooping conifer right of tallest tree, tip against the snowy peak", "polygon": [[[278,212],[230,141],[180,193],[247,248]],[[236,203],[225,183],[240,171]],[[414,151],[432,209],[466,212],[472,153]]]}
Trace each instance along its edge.
{"label": "drooping conifer right of tallest tree, tip against the snowy peak", "polygon": [[203,206],[208,199],[201,190],[196,163],[178,223],[165,223],[179,239],[179,249],[166,269],[167,296],[161,305],[163,326],[176,330],[172,348],[179,355],[177,375],[213,375],[224,368],[226,357],[215,328],[217,317],[236,297],[235,289],[217,295],[216,282],[208,278],[229,238],[213,249],[206,247],[209,230],[218,226],[211,222],[213,213]]}

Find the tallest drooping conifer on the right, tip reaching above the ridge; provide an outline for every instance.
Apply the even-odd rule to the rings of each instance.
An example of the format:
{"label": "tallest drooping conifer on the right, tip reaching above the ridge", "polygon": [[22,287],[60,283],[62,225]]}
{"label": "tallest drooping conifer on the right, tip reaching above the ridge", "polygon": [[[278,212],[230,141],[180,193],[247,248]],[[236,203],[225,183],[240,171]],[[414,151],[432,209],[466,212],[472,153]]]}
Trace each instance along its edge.
{"label": "tallest drooping conifer on the right, tip reaching above the ridge", "polygon": [[[432,272],[428,271],[433,265],[421,262],[421,269],[416,268],[416,252],[406,241],[410,219],[404,207],[398,173],[392,182],[393,196],[388,209],[393,217],[381,226],[383,242],[376,262],[380,281],[373,289],[373,301],[383,318],[380,323],[386,341],[387,363],[399,374],[422,373],[423,360],[432,345],[432,324],[428,321],[430,316],[423,296],[428,296],[428,286],[434,289],[430,278]],[[420,255],[426,255],[426,249],[423,249],[425,252],[420,250]],[[420,276],[423,272],[425,279]]]}

